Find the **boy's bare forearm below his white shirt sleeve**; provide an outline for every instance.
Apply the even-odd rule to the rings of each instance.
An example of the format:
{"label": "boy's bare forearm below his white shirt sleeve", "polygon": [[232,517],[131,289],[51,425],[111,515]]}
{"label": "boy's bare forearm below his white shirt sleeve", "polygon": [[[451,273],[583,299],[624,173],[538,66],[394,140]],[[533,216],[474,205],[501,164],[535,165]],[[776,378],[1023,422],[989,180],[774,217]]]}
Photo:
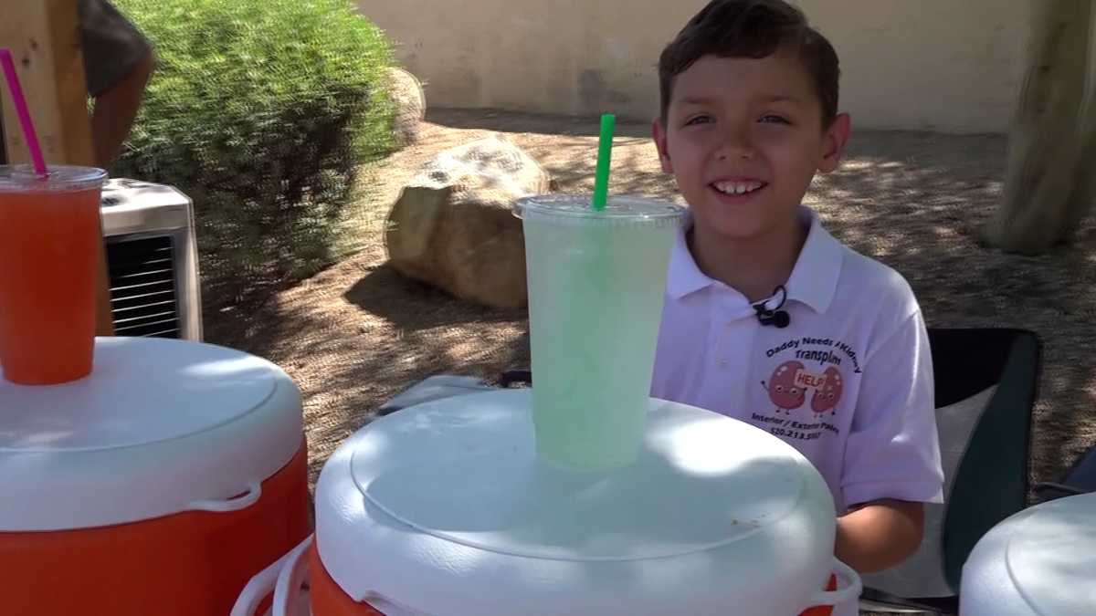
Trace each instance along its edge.
{"label": "boy's bare forearm below his white shirt sleeve", "polygon": [[834,554],[859,573],[889,569],[917,551],[924,520],[920,502],[884,499],[857,505],[837,518]]}

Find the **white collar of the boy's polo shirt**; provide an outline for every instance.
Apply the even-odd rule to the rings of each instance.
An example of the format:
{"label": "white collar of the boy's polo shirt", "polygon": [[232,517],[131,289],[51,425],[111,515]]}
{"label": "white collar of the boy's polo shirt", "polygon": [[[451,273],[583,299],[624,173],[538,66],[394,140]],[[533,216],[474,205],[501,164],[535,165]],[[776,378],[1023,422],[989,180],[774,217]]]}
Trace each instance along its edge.
{"label": "white collar of the boy's polo shirt", "polygon": [[[799,258],[796,259],[785,287],[788,299],[806,304],[817,312],[824,312],[837,289],[843,260],[842,246],[822,227],[818,214],[809,207],[800,207],[800,219],[809,225],[807,241],[799,251]],[[717,284],[717,281],[700,271],[688,250],[685,237],[692,226],[693,217],[686,212],[685,223],[677,230],[677,239],[670,254],[666,293],[674,299]]]}

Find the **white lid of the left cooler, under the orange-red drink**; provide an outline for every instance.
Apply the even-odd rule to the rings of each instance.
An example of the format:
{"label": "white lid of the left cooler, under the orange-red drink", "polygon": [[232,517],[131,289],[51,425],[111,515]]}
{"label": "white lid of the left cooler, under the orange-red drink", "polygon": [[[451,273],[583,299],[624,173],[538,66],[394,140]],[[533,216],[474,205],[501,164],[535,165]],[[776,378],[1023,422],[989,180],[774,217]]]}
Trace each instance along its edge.
{"label": "white lid of the left cooler, under the orange-red drink", "polygon": [[301,433],[299,391],[265,360],[178,340],[96,339],[87,378],[0,379],[0,532],[232,509],[293,458]]}

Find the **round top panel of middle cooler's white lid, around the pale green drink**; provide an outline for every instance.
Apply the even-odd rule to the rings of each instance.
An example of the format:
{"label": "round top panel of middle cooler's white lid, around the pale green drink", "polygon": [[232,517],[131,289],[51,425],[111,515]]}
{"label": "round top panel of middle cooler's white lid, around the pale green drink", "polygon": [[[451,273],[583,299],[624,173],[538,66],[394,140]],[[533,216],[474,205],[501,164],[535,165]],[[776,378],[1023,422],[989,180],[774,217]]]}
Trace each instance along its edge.
{"label": "round top panel of middle cooler's white lid, around the pale green drink", "polygon": [[742,422],[653,401],[636,464],[581,472],[537,457],[530,403],[527,392],[500,391],[379,419],[355,441],[354,484],[426,535],[552,560],[708,550],[801,506],[809,463]]}

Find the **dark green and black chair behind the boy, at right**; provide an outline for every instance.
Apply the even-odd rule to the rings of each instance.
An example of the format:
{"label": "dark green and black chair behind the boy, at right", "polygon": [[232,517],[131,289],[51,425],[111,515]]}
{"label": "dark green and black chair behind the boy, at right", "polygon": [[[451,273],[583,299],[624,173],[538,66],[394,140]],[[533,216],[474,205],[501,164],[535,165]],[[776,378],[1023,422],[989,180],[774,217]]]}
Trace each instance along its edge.
{"label": "dark green and black chair behind the boy, at right", "polygon": [[[967,400],[996,386],[974,423],[966,450],[949,470],[945,494],[941,562],[951,596],[899,596],[865,588],[861,609],[957,614],[962,566],[974,544],[1028,504],[1031,410],[1041,373],[1041,343],[1015,329],[929,329],[936,408]],[[865,584],[867,586],[867,584]]]}

